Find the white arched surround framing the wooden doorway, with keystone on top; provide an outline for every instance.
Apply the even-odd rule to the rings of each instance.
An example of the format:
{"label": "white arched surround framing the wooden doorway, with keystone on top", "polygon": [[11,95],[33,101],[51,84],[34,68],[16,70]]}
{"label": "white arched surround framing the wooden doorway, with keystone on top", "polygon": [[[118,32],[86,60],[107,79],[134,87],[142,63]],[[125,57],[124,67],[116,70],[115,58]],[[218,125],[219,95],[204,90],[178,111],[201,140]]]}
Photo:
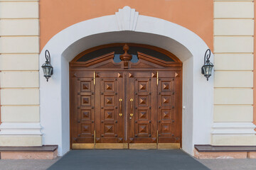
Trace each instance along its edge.
{"label": "white arched surround framing the wooden doorway, with keystone on top", "polygon": [[[213,77],[201,74],[206,43],[191,30],[160,18],[139,15],[124,6],[111,16],[76,23],[51,38],[40,55],[50,51],[53,77],[46,82],[40,69],[43,145],[58,145],[61,156],[70,149],[69,65],[80,52],[114,42],[134,42],[169,50],[183,62],[182,149],[210,145],[213,123]],[[213,61],[213,57],[211,58]]]}

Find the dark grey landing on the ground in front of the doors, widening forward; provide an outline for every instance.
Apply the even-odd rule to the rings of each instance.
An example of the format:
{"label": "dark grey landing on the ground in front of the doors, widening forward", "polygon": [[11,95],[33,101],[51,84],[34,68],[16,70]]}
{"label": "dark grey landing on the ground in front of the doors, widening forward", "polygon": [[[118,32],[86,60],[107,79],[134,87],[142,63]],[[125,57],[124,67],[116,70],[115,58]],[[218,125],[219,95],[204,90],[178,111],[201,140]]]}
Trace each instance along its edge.
{"label": "dark grey landing on the ground in front of the doors, widening forward", "polygon": [[208,168],[180,149],[82,149],[68,152],[48,170],[60,169],[206,170]]}

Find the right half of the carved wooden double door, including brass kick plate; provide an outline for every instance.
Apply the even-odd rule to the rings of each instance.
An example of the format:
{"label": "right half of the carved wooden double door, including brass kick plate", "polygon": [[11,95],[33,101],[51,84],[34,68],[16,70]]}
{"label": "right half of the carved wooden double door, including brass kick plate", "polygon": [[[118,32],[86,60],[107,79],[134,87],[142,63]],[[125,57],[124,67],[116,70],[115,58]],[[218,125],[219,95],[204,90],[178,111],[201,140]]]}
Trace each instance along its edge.
{"label": "right half of the carved wooden double door, including brass kick plate", "polygon": [[[181,104],[176,94],[181,91],[178,74],[180,72],[174,71],[129,72],[130,148],[175,147],[175,143],[181,142],[181,117],[176,109]],[[158,145],[154,145],[156,143]]]}

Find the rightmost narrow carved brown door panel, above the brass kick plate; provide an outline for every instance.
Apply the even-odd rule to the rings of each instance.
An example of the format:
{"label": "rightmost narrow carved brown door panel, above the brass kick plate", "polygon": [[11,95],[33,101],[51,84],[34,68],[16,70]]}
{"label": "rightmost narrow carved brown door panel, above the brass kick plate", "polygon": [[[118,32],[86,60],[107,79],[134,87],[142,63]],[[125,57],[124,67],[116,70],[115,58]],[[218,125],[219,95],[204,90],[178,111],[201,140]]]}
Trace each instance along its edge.
{"label": "rightmost narrow carved brown door panel, above the brass kick plate", "polygon": [[173,72],[159,72],[158,86],[158,130],[160,143],[181,142],[181,85]]}

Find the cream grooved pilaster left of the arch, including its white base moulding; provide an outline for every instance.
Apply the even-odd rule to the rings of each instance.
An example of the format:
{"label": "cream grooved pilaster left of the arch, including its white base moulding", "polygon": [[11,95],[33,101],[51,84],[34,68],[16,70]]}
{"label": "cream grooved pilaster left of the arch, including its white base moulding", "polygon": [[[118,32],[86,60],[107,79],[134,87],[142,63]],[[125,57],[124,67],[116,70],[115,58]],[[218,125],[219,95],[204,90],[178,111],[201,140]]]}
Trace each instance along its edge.
{"label": "cream grooved pilaster left of the arch, including its white base moulding", "polygon": [[41,145],[38,10],[36,0],[0,0],[0,146]]}

